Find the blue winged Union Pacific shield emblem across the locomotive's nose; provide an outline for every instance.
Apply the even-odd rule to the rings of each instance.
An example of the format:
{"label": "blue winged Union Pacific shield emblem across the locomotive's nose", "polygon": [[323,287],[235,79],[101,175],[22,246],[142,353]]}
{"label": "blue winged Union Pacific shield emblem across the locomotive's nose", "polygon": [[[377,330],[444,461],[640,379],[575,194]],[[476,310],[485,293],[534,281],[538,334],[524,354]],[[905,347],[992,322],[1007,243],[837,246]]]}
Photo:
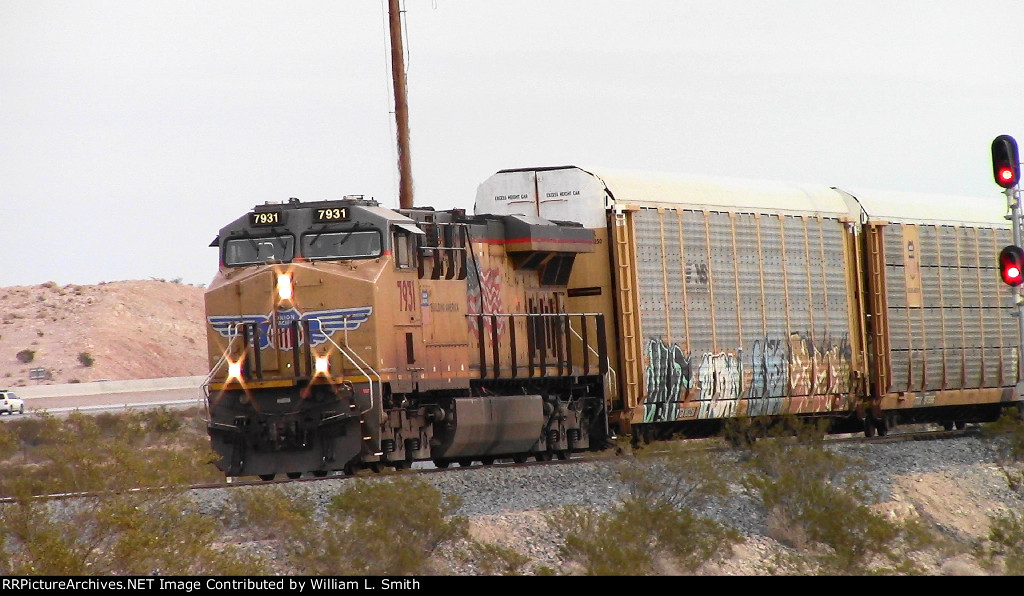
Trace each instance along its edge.
{"label": "blue winged Union Pacific shield emblem across the locomotive's nose", "polygon": [[[309,342],[311,345],[319,345],[329,337],[339,331],[354,331],[362,325],[373,313],[373,306],[355,306],[352,308],[334,308],[331,310],[310,310],[306,313],[300,312],[297,308],[281,310],[278,312],[276,325],[271,330],[271,314],[221,314],[208,316],[207,321],[213,329],[225,338],[232,338],[239,335],[237,330],[241,323],[256,324],[257,335],[259,336],[259,347],[261,350],[268,347],[276,347],[282,350],[291,350],[292,345],[292,322],[309,322]],[[299,326],[299,345],[307,341],[303,337],[302,326]]]}

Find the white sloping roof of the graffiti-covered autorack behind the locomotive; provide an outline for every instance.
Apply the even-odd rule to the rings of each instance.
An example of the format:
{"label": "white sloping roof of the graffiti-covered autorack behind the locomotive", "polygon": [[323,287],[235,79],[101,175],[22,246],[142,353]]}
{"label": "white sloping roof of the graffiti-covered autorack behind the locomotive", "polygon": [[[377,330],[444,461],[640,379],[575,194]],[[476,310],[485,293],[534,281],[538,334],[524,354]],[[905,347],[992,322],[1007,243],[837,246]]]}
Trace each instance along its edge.
{"label": "white sloping roof of the graffiti-covered autorack behind the locomotive", "polygon": [[637,206],[858,217],[842,195],[823,184],[799,184],[663,172],[581,168],[598,177],[613,201]]}

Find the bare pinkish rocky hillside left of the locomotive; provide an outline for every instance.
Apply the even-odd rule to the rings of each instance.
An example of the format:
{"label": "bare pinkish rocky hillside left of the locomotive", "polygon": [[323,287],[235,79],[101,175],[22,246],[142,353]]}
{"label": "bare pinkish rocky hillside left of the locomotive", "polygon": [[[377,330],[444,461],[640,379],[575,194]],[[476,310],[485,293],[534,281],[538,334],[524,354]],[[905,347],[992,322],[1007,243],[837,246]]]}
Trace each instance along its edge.
{"label": "bare pinkish rocky hillside left of the locomotive", "polygon": [[204,375],[203,292],[159,280],[0,288],[0,386]]}

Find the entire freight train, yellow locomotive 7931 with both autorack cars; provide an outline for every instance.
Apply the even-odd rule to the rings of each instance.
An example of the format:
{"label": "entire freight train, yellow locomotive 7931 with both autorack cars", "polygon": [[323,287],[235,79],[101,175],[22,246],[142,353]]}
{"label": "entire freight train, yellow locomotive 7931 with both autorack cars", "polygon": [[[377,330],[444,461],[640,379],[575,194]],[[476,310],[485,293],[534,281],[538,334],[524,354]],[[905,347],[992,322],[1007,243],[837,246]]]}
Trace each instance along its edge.
{"label": "entire freight train, yellow locomotive 7931 with both autorack cars", "polygon": [[998,201],[577,166],[474,211],[256,206],[206,294],[229,476],[565,458],[730,420],[1020,408]]}

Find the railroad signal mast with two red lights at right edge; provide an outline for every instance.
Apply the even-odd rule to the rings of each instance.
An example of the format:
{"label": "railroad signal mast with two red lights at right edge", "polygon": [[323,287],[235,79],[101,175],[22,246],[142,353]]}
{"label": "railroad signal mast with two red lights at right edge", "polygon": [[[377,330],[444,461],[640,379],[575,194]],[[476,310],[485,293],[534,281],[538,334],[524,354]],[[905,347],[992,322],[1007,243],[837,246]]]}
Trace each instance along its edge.
{"label": "railroad signal mast with two red lights at right edge", "polygon": [[1014,244],[999,251],[999,275],[1002,283],[1014,289],[1017,306],[1017,389],[1020,394],[1024,391],[1021,378],[1021,373],[1024,372],[1024,296],[1021,296],[1020,290],[1024,284],[1024,249],[1021,249],[1024,244],[1024,216],[1021,214],[1020,154],[1017,139],[1009,134],[1000,134],[992,140],[992,177],[1004,188],[1007,196],[1007,219],[1013,224]]}

